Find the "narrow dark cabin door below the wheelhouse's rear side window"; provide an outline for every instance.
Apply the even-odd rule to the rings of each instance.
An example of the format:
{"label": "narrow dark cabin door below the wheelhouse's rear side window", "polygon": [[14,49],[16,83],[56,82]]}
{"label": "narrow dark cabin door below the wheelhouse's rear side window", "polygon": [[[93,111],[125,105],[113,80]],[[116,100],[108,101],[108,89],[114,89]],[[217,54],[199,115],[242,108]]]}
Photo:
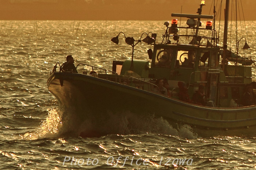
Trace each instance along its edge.
{"label": "narrow dark cabin door below the wheelhouse's rear side window", "polygon": [[208,77],[207,96],[210,101],[217,103],[219,73],[210,73]]}

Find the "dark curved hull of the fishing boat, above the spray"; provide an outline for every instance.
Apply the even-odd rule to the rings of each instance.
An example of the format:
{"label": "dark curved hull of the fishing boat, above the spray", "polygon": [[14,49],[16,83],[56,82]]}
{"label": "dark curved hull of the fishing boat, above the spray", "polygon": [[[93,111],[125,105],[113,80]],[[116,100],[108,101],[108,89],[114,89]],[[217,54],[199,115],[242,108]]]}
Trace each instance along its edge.
{"label": "dark curved hull of the fishing boat, above the spray", "polygon": [[131,111],[161,116],[176,128],[188,124],[200,137],[256,134],[256,106],[203,107],[90,75],[65,72],[54,72],[47,84],[60,105],[73,110],[80,121],[106,112]]}

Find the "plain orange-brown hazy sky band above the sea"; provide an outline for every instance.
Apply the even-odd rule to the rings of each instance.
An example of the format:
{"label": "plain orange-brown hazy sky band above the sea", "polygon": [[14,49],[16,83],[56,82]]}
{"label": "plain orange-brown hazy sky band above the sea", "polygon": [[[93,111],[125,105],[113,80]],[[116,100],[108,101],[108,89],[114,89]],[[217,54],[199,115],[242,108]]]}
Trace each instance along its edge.
{"label": "plain orange-brown hazy sky band above the sea", "polygon": [[[212,1],[205,0],[203,14],[212,15]],[[219,8],[221,0],[215,1],[218,1]],[[235,0],[233,1],[235,6]],[[238,1],[241,18],[242,1],[245,19],[256,20],[256,0]],[[0,20],[170,20],[171,13],[180,13],[181,8],[182,13],[196,14],[200,2],[201,0],[0,0]],[[222,7],[221,16],[224,15],[225,0]]]}

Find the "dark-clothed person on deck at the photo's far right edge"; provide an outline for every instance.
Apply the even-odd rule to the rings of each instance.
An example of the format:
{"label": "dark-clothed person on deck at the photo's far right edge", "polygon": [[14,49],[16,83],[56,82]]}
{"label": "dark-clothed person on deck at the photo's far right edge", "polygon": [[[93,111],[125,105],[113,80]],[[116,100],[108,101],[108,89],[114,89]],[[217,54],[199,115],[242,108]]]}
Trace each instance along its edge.
{"label": "dark-clothed person on deck at the photo's far right edge", "polygon": [[242,102],[243,106],[255,105],[256,98],[255,94],[253,94],[252,84],[246,84]]}

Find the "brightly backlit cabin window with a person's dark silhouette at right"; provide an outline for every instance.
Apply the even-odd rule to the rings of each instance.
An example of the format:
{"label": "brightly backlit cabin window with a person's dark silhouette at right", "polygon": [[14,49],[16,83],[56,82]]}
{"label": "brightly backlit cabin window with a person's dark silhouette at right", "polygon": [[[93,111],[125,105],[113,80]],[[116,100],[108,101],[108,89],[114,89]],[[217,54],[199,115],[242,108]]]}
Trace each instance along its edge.
{"label": "brightly backlit cabin window with a person's dark silhouette at right", "polygon": [[175,67],[194,67],[195,50],[178,50]]}

